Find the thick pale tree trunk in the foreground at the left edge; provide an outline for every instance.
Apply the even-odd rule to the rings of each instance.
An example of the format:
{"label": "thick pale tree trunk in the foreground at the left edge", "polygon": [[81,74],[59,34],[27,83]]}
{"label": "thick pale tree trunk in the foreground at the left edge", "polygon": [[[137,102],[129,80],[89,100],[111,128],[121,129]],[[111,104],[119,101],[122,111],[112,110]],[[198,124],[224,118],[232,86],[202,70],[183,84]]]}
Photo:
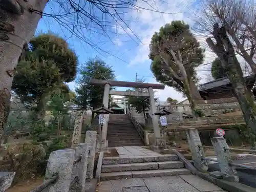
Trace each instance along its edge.
{"label": "thick pale tree trunk in the foreground at the left edge", "polygon": [[10,109],[10,92],[18,58],[33,37],[48,0],[0,1],[0,140]]}

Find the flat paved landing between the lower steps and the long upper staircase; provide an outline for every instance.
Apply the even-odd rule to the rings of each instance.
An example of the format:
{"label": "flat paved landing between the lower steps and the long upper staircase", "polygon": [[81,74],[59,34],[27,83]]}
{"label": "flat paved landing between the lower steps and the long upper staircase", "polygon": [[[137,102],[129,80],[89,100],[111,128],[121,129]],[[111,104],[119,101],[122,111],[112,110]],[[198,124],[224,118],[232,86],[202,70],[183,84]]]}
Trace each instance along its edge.
{"label": "flat paved landing between the lower steps and the long upper staircase", "polygon": [[161,156],[161,154],[147,150],[141,146],[118,146],[115,149],[120,157]]}

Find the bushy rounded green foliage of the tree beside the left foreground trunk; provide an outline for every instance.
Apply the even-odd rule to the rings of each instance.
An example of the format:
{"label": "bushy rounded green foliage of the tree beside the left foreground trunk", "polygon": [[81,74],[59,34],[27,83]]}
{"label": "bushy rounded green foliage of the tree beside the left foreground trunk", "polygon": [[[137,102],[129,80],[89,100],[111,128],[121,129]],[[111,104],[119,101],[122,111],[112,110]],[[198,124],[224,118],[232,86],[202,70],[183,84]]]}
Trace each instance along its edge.
{"label": "bushy rounded green foliage of the tree beside the left foreground trunk", "polygon": [[19,60],[12,90],[25,105],[35,104],[40,111],[57,89],[69,92],[64,82],[75,78],[78,61],[61,37],[53,34],[34,37]]}

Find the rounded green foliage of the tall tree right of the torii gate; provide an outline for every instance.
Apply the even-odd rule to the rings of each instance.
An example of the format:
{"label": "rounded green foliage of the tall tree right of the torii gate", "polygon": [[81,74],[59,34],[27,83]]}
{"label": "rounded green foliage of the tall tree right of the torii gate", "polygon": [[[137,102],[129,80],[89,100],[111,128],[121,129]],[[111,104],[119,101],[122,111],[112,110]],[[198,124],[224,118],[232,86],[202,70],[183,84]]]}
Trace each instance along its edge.
{"label": "rounded green foliage of the tall tree right of the torii gate", "polygon": [[183,92],[184,82],[177,78],[182,75],[181,70],[170,53],[170,48],[176,55],[180,50],[187,76],[195,83],[199,81],[195,68],[203,62],[204,50],[190,32],[189,25],[180,20],[164,25],[152,36],[149,56],[152,60],[151,70],[154,76],[159,82]]}

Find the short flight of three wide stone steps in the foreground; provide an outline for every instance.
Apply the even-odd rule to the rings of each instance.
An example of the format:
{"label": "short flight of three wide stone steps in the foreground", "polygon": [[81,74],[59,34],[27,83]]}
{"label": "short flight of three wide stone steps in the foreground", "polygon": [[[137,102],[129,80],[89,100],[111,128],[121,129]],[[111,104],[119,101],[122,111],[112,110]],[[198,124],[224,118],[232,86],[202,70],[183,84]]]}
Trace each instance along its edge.
{"label": "short flight of three wide stone steps in the foreground", "polygon": [[176,155],[105,157],[101,180],[188,175],[190,170]]}

